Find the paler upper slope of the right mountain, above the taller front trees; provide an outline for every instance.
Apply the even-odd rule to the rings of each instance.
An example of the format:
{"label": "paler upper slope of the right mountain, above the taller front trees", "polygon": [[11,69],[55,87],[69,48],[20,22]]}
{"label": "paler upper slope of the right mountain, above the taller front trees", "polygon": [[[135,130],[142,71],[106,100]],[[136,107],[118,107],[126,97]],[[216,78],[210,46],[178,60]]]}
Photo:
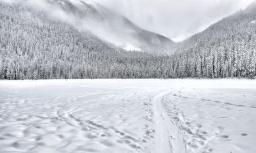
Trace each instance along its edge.
{"label": "paler upper slope of the right mountain, above the taller front trees", "polygon": [[[189,49],[204,49],[216,44],[232,44],[234,41],[248,42],[255,39],[256,1],[245,10],[230,15],[187,40],[172,46],[172,52],[184,52]],[[251,39],[250,39],[251,38]],[[248,45],[249,43],[246,43]]]}

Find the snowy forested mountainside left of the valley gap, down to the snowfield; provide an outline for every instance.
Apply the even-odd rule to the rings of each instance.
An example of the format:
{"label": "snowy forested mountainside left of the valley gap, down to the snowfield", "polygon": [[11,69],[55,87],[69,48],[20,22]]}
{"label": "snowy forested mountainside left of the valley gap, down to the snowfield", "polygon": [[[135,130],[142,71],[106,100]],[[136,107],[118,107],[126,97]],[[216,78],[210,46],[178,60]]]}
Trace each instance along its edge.
{"label": "snowy forested mountainside left of the valley gap, down to the snowfield", "polygon": [[58,10],[59,7],[40,0],[30,2],[31,5],[0,1],[0,79],[168,78],[171,75],[163,73],[169,69],[169,61],[163,57],[127,52],[99,39],[93,31],[80,29],[84,26],[75,27],[84,22]]}

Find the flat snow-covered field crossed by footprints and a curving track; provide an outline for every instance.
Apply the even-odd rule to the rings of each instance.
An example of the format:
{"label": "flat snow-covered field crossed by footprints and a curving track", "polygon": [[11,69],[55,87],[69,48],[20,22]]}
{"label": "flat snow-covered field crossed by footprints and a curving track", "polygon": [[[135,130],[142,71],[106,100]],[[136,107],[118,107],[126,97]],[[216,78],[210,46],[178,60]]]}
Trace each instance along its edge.
{"label": "flat snow-covered field crossed by footprints and a curving track", "polygon": [[0,81],[0,152],[256,152],[256,80]]}

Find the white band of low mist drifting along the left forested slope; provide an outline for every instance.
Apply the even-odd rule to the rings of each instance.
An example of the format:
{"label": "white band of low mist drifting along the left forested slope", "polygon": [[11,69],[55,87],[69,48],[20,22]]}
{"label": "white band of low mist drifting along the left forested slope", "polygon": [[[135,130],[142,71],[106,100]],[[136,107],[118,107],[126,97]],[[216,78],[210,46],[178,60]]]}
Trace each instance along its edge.
{"label": "white band of low mist drifting along the left forested slope", "polygon": [[118,18],[112,18],[112,23],[108,23],[106,20],[94,18],[95,16],[74,14],[61,8],[60,4],[55,3],[53,5],[51,3],[53,0],[0,0],[0,2],[19,3],[34,8],[37,11],[42,11],[48,18],[71,25],[78,31],[90,32],[99,39],[117,46],[137,45],[138,43],[131,36],[122,35],[125,24]]}

